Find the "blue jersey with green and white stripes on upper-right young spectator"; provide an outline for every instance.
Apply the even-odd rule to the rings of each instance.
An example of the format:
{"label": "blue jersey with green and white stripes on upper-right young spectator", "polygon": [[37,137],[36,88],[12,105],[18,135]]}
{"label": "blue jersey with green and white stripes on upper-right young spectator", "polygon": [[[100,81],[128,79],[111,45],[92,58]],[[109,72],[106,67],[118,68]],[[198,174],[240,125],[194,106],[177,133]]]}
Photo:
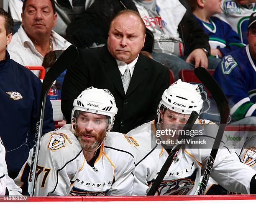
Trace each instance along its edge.
{"label": "blue jersey with green and white stripes on upper-right young spectator", "polygon": [[218,17],[211,17],[210,23],[197,18],[197,21],[209,36],[209,44],[211,49],[218,48],[220,52],[227,55],[229,52],[243,47],[238,34],[226,22],[218,19]]}

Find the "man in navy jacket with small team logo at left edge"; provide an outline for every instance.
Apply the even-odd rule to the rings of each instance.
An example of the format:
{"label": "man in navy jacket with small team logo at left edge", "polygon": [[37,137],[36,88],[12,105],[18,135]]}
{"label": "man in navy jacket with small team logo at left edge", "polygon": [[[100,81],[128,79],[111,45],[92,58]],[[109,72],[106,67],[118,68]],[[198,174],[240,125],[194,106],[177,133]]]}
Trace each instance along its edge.
{"label": "man in navy jacket with small team logo at left edge", "polygon": [[[41,81],[10,59],[6,46],[12,39],[13,19],[0,10],[0,135],[6,148],[9,176],[15,178],[28,158],[36,132]],[[46,101],[43,134],[54,129],[51,103]]]}

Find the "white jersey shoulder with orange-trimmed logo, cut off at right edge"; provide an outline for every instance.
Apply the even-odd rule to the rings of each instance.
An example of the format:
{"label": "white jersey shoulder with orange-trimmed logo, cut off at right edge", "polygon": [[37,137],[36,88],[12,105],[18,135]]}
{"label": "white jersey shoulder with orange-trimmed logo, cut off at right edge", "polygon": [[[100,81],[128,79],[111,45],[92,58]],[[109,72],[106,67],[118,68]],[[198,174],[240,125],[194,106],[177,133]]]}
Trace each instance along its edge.
{"label": "white jersey shoulder with orange-trimmed logo, cut off at right edge", "polygon": [[240,153],[240,158],[249,167],[256,170],[256,135],[246,140]]}

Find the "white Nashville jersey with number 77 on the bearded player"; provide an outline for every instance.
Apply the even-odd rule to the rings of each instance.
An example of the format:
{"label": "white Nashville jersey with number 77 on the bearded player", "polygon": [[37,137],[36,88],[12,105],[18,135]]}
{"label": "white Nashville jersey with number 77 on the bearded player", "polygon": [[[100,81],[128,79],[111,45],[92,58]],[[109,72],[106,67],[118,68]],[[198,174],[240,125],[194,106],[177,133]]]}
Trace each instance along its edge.
{"label": "white Nashville jersey with number 77 on the bearded player", "polygon": [[[35,196],[125,196],[133,192],[134,144],[124,134],[109,132],[90,164],[66,124],[41,140]],[[32,149],[15,183],[27,191]]]}

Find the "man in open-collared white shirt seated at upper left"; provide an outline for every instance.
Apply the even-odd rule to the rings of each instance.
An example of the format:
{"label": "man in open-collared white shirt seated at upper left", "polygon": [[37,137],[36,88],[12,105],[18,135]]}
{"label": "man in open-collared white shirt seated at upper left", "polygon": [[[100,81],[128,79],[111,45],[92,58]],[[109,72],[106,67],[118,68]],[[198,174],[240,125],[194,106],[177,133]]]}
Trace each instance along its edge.
{"label": "man in open-collared white shirt seated at upper left", "polygon": [[23,66],[41,66],[46,53],[71,45],[52,30],[56,24],[54,0],[24,0],[22,24],[8,46],[11,59]]}

